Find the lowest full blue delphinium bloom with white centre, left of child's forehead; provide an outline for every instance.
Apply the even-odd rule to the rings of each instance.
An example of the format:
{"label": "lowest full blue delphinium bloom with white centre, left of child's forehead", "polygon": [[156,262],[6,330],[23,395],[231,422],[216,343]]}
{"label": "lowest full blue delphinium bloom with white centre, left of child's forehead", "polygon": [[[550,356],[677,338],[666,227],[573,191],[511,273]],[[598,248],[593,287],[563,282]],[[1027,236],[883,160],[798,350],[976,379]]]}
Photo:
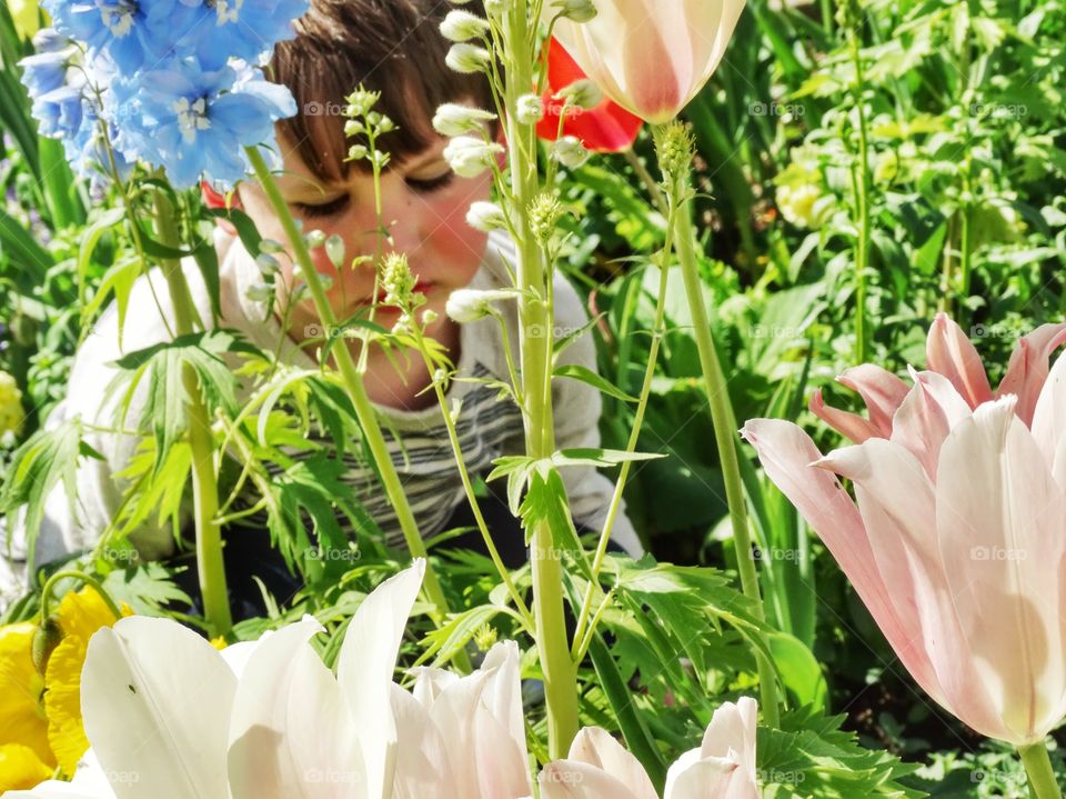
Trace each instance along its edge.
{"label": "lowest full blue delphinium bloom with white centre, left of child's forehead", "polygon": [[240,66],[204,71],[188,59],[120,82],[122,149],[163,167],[177,188],[204,174],[234,184],[249,171],[243,149],[273,142],[274,121],[296,112],[285,87]]}

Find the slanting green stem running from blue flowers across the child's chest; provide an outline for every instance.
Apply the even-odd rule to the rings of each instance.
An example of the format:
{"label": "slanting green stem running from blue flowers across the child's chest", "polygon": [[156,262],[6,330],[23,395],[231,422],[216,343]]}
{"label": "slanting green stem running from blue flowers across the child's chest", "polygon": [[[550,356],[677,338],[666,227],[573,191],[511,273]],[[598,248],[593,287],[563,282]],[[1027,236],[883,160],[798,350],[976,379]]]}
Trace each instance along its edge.
{"label": "slanting green stem running from blue flowers across the child's chest", "polygon": [[[296,228],[296,222],[289,211],[289,206],[284,197],[282,197],[281,190],[278,188],[278,183],[270,172],[270,168],[257,148],[245,148],[245,152],[248,153],[252,169],[255,171],[255,177],[259,179],[260,186],[266,194],[266,199],[274,209],[274,213],[278,214],[278,220],[281,222],[281,227],[292,248],[293,257],[303,271],[303,279],[308,284],[308,290],[311,292],[311,299],[314,302],[320,321],[328,329],[335,328],[336,317],[325,296],[322,280],[314,269],[311,252],[308,250],[308,244],[303,240],[303,236],[301,236],[300,230]],[[344,388],[348,390],[348,396],[352,400],[352,406],[355,409],[355,416],[359,419],[363,435],[366,437],[366,445],[370,448],[374,463],[378,466],[385,493],[393,509],[396,511],[396,519],[400,521],[400,529],[403,532],[403,540],[406,542],[408,551],[411,552],[413,558],[426,558],[423,590],[430,603],[434,607],[431,615],[434,621],[440,625],[450,612],[447,598],[444,596],[444,590],[441,588],[436,572],[426,557],[425,541],[419,532],[414,513],[411,511],[411,503],[403,492],[403,485],[400,482],[396,467],[392,462],[392,457],[385,445],[385,438],[381,431],[381,425],[378,422],[374,406],[366,394],[362,373],[356,368],[346,342],[341,341],[340,344],[341,346],[333,348],[333,359],[336,361],[338,371],[341,373]],[[463,670],[469,670],[469,661],[464,651],[460,651],[455,656],[455,660],[456,666]]]}

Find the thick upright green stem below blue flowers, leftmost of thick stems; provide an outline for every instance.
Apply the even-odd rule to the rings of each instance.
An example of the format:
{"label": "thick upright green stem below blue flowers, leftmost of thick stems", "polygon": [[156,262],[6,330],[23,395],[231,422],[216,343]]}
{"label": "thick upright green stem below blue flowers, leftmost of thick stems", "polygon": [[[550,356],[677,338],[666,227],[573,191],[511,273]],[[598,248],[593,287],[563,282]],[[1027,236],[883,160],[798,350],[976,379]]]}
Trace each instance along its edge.
{"label": "thick upright green stem below blue flowers, leftmost of thick stems", "polygon": [[[179,246],[174,207],[170,197],[155,190],[155,230],[167,247]],[[181,262],[162,261],[163,276],[174,307],[174,328],[178,336],[193,331],[197,309],[192,303]],[[230,599],[225,588],[225,563],[222,557],[222,532],[215,519],[219,509],[219,483],[215,471],[214,433],[211,415],[203,401],[200,379],[190,364],[184,364],[181,381],[189,396],[189,448],[192,452],[192,500],[197,526],[197,572],[203,598],[203,615],[212,636],[225,636],[233,627]]]}

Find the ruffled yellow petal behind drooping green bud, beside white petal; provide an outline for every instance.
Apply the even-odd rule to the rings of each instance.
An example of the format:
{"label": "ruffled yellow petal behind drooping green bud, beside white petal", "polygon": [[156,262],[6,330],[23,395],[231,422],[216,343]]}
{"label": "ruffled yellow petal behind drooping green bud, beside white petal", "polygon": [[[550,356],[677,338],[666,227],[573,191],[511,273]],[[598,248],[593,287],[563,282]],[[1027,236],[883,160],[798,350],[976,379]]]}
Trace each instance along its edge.
{"label": "ruffled yellow petal behind drooping green bud, beside white petal", "polygon": [[[122,607],[122,615],[132,611]],[[118,619],[92,588],[70,591],[56,611],[63,639],[52,651],[44,671],[44,716],[48,718],[48,742],[59,767],[68,777],[74,773],[78,760],[89,748],[81,723],[81,667],[86,662],[89,639],[101,627],[111,627]]]}

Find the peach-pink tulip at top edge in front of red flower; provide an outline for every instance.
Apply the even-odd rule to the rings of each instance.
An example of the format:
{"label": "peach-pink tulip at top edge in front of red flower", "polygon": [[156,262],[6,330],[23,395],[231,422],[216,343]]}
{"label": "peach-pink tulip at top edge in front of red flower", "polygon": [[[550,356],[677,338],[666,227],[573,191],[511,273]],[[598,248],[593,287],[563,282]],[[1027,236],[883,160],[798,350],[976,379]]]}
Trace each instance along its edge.
{"label": "peach-pink tulip at top edge in front of red flower", "polygon": [[596,0],[589,22],[560,19],[556,39],[612,100],[641,119],[676,117],[711,79],[744,0]]}

